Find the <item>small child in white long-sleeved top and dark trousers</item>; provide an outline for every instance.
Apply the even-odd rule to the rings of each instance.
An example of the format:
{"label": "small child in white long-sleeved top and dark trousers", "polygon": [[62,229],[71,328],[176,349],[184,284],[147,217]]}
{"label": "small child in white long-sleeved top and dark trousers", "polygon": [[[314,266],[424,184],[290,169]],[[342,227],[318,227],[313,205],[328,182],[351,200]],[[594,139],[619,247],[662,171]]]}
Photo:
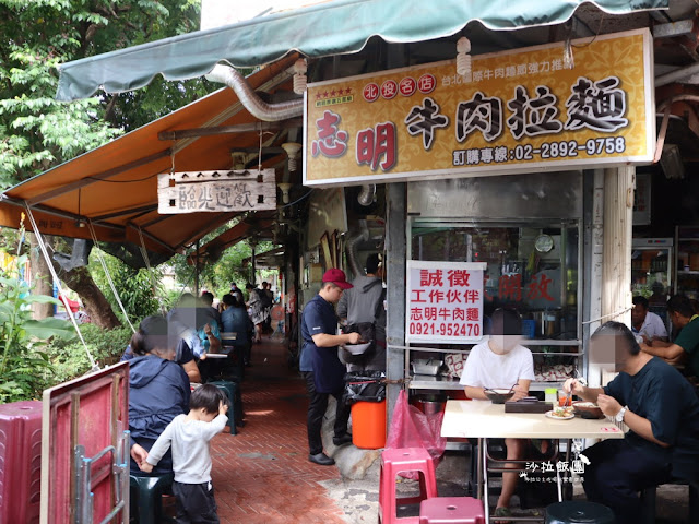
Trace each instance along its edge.
{"label": "small child in white long-sleeved top and dark trousers", "polygon": [[151,473],[173,448],[173,493],[177,499],[178,523],[218,524],[209,442],[225,428],[227,410],[218,388],[204,384],[196,389],[189,401],[189,414],[173,419],[139,466]]}

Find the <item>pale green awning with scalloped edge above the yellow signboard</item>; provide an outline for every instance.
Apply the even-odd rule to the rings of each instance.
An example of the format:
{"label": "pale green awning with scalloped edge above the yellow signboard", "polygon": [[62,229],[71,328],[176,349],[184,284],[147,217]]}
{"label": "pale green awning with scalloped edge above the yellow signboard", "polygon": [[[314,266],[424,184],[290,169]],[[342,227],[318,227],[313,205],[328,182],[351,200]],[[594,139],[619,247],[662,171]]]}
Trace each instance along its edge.
{"label": "pale green awning with scalloped edge above the yellow signboard", "polygon": [[254,67],[294,50],[311,58],[356,52],[372,36],[430,40],[472,21],[494,31],[559,24],[583,3],[617,15],[668,7],[668,0],[337,0],[64,63],[56,98],[85,98],[100,87],[131,91],[158,73],[167,80],[201,76],[220,61]]}

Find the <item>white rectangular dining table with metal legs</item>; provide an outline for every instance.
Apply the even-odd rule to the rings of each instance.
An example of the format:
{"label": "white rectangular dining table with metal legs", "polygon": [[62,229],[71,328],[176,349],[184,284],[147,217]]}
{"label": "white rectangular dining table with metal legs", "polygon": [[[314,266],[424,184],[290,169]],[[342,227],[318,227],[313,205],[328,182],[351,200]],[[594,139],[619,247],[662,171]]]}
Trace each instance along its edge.
{"label": "white rectangular dining table with metal legs", "polygon": [[[553,419],[543,413],[505,413],[505,404],[494,404],[490,401],[452,400],[447,401],[441,436],[478,439],[479,456],[471,460],[477,460],[477,497],[484,502],[485,522],[487,523],[489,522],[486,474],[487,439],[623,439],[624,431],[606,418]],[[568,445],[569,449],[570,445]]]}

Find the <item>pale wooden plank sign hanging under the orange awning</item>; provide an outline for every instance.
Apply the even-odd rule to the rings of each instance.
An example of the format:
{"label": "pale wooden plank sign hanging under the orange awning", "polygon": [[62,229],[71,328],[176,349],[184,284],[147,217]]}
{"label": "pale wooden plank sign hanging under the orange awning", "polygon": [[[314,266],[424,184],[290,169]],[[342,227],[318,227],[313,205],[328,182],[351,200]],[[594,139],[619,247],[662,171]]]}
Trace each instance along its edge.
{"label": "pale wooden plank sign hanging under the orange awning", "polygon": [[164,172],[157,202],[162,215],[275,210],[274,169]]}

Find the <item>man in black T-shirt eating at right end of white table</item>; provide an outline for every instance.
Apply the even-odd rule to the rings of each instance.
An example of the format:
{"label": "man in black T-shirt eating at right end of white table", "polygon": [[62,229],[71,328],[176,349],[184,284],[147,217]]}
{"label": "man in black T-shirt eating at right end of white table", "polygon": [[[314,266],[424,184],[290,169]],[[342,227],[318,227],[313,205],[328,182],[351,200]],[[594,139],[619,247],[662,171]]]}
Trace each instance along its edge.
{"label": "man in black T-shirt eating at right end of white table", "polygon": [[605,440],[583,452],[590,461],[585,495],[612,508],[618,524],[638,523],[639,491],[672,477],[699,480],[699,400],[676,369],[641,352],[619,322],[607,322],[592,335],[591,352],[613,355],[619,374],[605,388],[568,379],[564,389],[596,402],[629,432],[624,440]]}

